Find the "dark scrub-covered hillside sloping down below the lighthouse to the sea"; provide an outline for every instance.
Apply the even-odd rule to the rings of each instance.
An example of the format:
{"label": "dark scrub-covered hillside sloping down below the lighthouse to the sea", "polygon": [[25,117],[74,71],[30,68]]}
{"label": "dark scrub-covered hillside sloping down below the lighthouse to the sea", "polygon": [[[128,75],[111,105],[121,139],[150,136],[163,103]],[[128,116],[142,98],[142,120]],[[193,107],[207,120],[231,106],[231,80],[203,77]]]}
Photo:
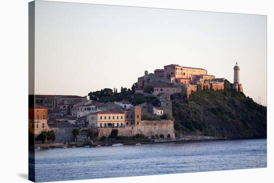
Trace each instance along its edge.
{"label": "dark scrub-covered hillside sloping down below the lighthouse to the sea", "polygon": [[174,128],[227,138],[266,138],[267,107],[234,89],[198,90],[172,100]]}

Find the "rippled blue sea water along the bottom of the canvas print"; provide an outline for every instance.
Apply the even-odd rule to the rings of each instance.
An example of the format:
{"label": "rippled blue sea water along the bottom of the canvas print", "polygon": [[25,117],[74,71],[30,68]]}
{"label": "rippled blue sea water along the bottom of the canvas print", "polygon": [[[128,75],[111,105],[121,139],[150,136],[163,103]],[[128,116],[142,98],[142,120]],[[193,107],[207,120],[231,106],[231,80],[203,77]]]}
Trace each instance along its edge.
{"label": "rippled blue sea water along the bottom of the canvas print", "polygon": [[35,181],[267,167],[267,140],[227,140],[35,151]]}

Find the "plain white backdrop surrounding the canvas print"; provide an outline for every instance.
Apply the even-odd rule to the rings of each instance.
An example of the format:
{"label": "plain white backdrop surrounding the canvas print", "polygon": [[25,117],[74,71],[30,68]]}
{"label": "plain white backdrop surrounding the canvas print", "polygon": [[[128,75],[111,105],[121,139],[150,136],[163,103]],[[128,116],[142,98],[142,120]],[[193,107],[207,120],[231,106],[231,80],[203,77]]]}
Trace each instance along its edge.
{"label": "plain white backdrop surrounding the canvas print", "polygon": [[[59,0],[69,1],[69,0]],[[70,0],[100,4],[161,7],[268,15],[268,168],[161,176],[141,176],[81,183],[269,183],[273,182],[273,17],[271,0]],[[28,0],[0,1],[0,182],[27,182]],[[58,182],[62,183],[62,182]]]}

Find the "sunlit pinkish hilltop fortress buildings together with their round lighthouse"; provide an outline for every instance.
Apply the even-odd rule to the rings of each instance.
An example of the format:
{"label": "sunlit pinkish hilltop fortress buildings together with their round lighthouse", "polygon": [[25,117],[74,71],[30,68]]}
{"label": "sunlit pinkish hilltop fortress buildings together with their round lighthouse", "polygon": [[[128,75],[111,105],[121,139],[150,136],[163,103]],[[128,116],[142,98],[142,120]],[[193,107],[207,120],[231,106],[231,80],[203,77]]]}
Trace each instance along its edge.
{"label": "sunlit pinkish hilltop fortress buildings together with their round lighthouse", "polygon": [[[197,91],[197,86],[199,85],[202,90],[223,90],[225,88],[225,80],[225,78],[215,78],[214,75],[208,75],[207,70],[203,68],[170,64],[165,65],[163,69],[154,70],[154,73],[144,71],[144,75],[138,77],[136,93],[143,94],[153,88],[151,93],[155,96],[182,93],[189,98],[191,91]],[[237,62],[234,66],[234,83],[232,88],[243,92],[243,86],[240,83],[240,67]]]}

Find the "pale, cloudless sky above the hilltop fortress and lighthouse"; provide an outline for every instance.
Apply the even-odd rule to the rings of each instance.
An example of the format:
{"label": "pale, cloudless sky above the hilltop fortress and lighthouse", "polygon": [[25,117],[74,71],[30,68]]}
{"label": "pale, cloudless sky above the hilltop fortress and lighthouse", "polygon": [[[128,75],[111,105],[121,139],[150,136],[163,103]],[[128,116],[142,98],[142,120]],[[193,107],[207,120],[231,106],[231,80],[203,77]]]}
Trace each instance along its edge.
{"label": "pale, cloudless sky above the hilltop fortress and lighthouse", "polygon": [[267,16],[36,1],[35,93],[131,87],[164,65],[199,67],[267,104]]}

